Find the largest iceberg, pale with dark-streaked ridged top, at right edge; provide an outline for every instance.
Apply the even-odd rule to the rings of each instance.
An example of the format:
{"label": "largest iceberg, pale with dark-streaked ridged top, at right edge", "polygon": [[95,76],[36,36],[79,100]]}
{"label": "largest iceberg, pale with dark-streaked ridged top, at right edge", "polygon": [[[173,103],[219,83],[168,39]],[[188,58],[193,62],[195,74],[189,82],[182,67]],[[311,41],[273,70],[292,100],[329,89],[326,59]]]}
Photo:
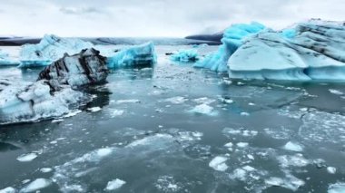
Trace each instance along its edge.
{"label": "largest iceberg, pale with dark-streaked ridged top, at right edge", "polygon": [[266,30],[247,39],[228,61],[241,79],[345,80],[345,26],[310,20],[286,33]]}

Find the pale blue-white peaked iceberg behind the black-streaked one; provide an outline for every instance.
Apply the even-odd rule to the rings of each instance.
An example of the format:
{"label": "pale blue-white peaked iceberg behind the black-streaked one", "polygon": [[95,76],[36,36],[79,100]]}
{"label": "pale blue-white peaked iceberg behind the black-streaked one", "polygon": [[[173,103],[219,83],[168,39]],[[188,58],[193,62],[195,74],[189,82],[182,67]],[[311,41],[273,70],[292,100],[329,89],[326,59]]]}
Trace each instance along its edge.
{"label": "pale blue-white peaked iceberg behind the black-streaked one", "polygon": [[22,46],[19,67],[46,66],[62,58],[64,53],[75,54],[93,46],[93,43],[81,39],[45,34],[40,43]]}

